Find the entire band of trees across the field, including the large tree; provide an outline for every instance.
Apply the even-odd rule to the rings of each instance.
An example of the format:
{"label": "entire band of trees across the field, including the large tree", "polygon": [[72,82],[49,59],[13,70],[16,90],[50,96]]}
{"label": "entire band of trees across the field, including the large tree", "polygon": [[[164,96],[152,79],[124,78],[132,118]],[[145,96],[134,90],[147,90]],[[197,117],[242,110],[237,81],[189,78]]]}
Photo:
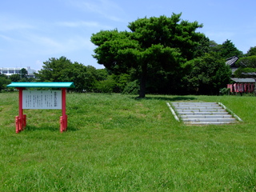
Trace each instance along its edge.
{"label": "entire band of trees across the field, including the large tree", "polygon": [[0,76],[0,85],[3,78],[12,82],[74,82],[77,92],[139,94],[143,98],[146,94],[218,94],[230,82],[231,70],[225,62],[233,56],[240,58],[238,77],[256,72],[256,47],[242,54],[230,40],[219,45],[196,31],[201,24],[180,17],[140,18],[129,23],[130,32],[102,30],[92,34],[91,42],[97,46],[94,58],[105,69],[63,56],[44,62],[35,79]]}

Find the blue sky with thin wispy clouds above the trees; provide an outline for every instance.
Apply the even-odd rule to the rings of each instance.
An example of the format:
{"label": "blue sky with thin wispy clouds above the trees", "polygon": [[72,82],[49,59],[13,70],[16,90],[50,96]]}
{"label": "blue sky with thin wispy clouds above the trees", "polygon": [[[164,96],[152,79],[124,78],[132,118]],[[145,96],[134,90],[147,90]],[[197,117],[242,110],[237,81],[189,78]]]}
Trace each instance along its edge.
{"label": "blue sky with thin wispy clouds above the trees", "polygon": [[255,0],[2,0],[0,67],[42,69],[49,58],[103,68],[91,56],[91,34],[129,30],[137,18],[171,16],[198,21],[198,30],[222,44],[226,39],[242,52],[256,46]]}

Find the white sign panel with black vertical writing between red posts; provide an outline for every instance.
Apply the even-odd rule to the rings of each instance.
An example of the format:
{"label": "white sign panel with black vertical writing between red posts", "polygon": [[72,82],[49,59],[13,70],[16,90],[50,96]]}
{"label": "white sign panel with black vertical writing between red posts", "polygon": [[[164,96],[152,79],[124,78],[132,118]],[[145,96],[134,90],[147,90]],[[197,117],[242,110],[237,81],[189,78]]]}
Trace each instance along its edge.
{"label": "white sign panel with black vertical writing between red posts", "polygon": [[62,109],[62,90],[23,90],[22,109]]}

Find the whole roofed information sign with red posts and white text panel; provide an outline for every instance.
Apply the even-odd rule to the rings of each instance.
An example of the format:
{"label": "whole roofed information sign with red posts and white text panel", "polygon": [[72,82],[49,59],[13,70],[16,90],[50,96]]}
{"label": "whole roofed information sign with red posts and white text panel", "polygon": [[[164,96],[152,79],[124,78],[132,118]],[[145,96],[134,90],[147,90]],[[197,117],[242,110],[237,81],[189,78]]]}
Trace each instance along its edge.
{"label": "whole roofed information sign with red posts and white text panel", "polygon": [[[62,99],[61,109],[62,116],[60,117],[60,131],[66,131],[67,128],[67,115],[66,115],[66,88],[74,88],[73,82],[12,82],[7,87],[16,87],[18,89],[18,116],[15,117],[16,133],[18,134],[26,127],[26,114],[23,114],[23,90],[26,88],[61,88]],[[37,94],[33,92],[27,95],[26,98],[26,109],[58,109],[58,94],[57,91],[50,91],[50,95],[47,91],[38,90]],[[30,91],[31,92],[31,91]],[[54,95],[53,93],[54,92]],[[33,103],[32,103],[33,102]],[[30,108],[32,107],[32,108]]]}

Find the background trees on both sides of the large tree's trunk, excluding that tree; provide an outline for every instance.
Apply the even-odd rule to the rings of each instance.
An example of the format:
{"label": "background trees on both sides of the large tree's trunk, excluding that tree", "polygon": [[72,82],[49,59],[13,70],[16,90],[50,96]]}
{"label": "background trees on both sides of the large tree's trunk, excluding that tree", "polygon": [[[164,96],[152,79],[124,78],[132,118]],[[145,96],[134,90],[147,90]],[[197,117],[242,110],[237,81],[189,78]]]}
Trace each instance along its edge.
{"label": "background trees on both sides of the large tree's trunk, excluding that tree", "polygon": [[[226,82],[230,82],[230,68],[223,64],[224,58],[230,55],[222,58],[219,53],[224,50],[223,47],[226,47],[226,44],[233,47],[232,49],[234,45],[230,40],[222,45],[211,43],[215,46],[209,46],[208,52],[202,57],[194,58],[190,60],[190,63],[186,63],[183,69],[185,70],[184,76],[182,76],[183,71],[168,73],[165,70],[150,69],[146,93],[218,94],[218,90],[225,87]],[[239,77],[248,77],[248,74],[247,76],[243,74],[245,71],[255,72],[256,52],[251,53],[251,50],[255,48],[250,48],[248,53],[238,60],[239,65],[242,66],[236,72]],[[130,70],[129,74],[113,74],[111,70],[97,70],[94,66],[71,62],[66,57],[50,58],[44,62],[42,70],[39,70],[35,76],[36,78],[28,78],[26,69],[22,69],[21,74],[10,75],[9,78],[5,74],[0,74],[0,91],[6,89],[6,85],[10,82],[74,82],[76,92],[139,93],[138,71],[136,70]]]}

